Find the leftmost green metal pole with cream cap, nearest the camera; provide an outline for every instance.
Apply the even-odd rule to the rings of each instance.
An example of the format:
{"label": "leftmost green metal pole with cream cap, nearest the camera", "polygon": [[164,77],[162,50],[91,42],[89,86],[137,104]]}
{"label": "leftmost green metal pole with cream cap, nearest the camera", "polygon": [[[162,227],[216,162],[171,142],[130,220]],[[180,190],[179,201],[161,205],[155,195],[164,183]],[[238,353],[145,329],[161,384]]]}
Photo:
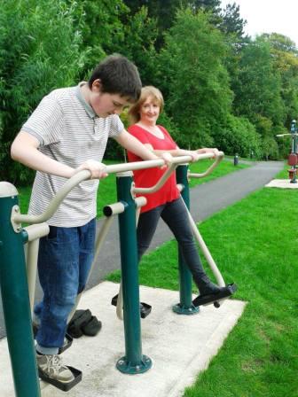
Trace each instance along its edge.
{"label": "leftmost green metal pole with cream cap, nearest the camera", "polygon": [[15,395],[40,397],[24,241],[21,230],[12,228],[13,206],[18,206],[18,191],[11,183],[0,182],[0,284]]}

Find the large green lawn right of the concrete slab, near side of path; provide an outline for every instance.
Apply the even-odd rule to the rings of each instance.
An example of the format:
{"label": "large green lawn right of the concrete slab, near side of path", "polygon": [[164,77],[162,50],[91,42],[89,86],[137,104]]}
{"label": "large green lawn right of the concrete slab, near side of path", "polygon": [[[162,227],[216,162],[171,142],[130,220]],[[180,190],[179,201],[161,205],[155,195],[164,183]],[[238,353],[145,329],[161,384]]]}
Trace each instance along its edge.
{"label": "large green lawn right of the concrete slab, near side of path", "polygon": [[[185,397],[298,396],[298,191],[263,188],[200,224],[235,299],[239,323]],[[108,277],[119,281],[120,275]],[[140,284],[178,289],[176,243],[145,255]]]}

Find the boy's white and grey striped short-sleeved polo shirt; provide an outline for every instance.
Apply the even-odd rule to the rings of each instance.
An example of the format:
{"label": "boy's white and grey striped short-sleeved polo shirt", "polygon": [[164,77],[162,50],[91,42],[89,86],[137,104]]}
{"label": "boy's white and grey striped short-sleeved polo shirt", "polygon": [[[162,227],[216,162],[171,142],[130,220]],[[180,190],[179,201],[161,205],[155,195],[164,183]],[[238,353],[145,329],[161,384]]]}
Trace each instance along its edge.
{"label": "boy's white and grey striped short-sleeved polo shirt", "polygon": [[[98,117],[82,97],[80,87],[53,90],[43,97],[21,128],[35,136],[38,150],[51,159],[77,168],[86,160],[102,161],[109,137],[123,130],[119,116]],[[66,178],[37,171],[29,214],[42,214]],[[48,223],[76,227],[96,216],[98,180],[84,181],[70,191]]]}

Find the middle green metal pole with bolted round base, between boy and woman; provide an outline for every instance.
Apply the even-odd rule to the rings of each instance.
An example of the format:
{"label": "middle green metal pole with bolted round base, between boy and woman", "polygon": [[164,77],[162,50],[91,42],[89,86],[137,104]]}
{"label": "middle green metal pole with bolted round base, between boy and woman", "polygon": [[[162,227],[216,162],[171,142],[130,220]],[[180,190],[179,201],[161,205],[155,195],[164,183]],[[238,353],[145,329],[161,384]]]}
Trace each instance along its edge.
{"label": "middle green metal pole with bolted round base, between boy and woman", "polygon": [[131,197],[132,173],[117,175],[117,197],[125,210],[119,214],[122,262],[123,321],[125,356],[118,360],[118,370],[137,374],[149,370],[152,361],[142,354],[141,320],[139,311],[136,205]]}

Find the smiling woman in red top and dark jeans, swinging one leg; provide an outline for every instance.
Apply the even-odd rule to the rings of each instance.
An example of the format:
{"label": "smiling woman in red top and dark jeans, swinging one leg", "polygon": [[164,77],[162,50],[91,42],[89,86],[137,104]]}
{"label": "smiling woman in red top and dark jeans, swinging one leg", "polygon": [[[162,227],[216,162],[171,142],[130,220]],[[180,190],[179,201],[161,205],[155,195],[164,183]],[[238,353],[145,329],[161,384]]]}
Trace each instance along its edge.
{"label": "smiling woman in red top and dark jeans, swinging one leg", "polygon": [[[178,148],[166,128],[156,124],[162,108],[163,97],[161,91],[152,86],[144,87],[137,103],[129,109],[129,121],[132,124],[128,128],[129,133],[136,136],[142,144],[145,144],[148,149],[158,156],[168,152],[171,156],[190,155],[192,161],[195,161],[198,160],[200,153],[217,153],[216,149],[204,148],[197,151],[187,151]],[[129,161],[142,160],[132,152],[128,152],[128,157]],[[153,186],[164,172],[165,170],[162,168],[134,171],[136,186]],[[225,287],[221,288],[213,284],[201,265],[188,214],[182,201],[183,199],[176,188],[175,173],[169,177],[159,191],[148,195],[142,194],[142,196],[147,199],[147,204],[142,207],[137,224],[138,260],[148,249],[157,223],[161,218],[167,223],[169,229],[176,237],[184,261],[192,272],[193,281],[199,289],[200,296],[222,292]]]}

